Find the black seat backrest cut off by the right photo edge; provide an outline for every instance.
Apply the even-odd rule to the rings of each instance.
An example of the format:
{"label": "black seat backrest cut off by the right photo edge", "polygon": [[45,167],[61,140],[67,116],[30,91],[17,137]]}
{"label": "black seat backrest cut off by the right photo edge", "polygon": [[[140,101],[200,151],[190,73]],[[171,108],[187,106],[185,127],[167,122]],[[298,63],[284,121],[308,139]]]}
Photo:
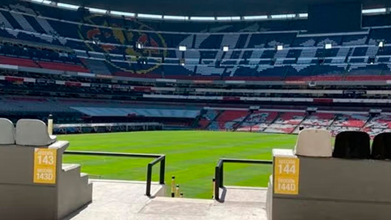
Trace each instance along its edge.
{"label": "black seat backrest cut off by the right photo edge", "polygon": [[373,138],[370,158],[375,160],[391,159],[391,132],[379,133]]}

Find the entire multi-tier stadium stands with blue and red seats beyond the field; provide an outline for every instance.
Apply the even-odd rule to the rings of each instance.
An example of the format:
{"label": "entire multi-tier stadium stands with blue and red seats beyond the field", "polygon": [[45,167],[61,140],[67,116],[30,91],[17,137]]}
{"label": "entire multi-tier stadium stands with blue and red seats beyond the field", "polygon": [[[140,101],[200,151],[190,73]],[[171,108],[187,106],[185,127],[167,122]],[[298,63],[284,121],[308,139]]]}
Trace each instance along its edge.
{"label": "entire multi-tier stadium stands with blue and red seats beyond the field", "polygon": [[59,124],[388,132],[390,17],[310,34],[305,19],[151,21],[11,1],[0,8],[0,112],[52,113]]}

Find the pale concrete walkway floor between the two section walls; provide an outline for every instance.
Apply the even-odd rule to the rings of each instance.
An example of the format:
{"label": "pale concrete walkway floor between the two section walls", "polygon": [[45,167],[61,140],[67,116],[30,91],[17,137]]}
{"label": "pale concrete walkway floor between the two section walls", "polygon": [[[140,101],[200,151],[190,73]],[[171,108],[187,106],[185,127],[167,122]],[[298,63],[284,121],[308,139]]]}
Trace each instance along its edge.
{"label": "pale concrete walkway floor between the two section walls", "polygon": [[[266,220],[266,189],[227,187],[224,202],[212,199],[148,198],[145,182],[92,180],[93,200],[66,220]],[[164,187],[152,184],[152,195]]]}

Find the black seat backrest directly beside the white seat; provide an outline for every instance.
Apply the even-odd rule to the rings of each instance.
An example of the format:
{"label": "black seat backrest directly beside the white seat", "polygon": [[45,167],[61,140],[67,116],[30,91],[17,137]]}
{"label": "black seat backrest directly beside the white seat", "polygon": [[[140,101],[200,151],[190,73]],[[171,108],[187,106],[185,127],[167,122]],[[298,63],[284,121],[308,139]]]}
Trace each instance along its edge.
{"label": "black seat backrest directly beside the white seat", "polygon": [[370,138],[366,132],[346,131],[335,137],[333,157],[369,159]]}

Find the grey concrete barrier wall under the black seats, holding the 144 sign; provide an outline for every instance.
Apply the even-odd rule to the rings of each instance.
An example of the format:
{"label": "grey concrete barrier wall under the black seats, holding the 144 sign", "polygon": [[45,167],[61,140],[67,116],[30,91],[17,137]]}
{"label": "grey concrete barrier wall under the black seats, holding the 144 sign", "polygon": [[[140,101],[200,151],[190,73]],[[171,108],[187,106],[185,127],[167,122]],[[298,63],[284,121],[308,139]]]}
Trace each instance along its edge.
{"label": "grey concrete barrier wall under the black seats, holding the 144 sign", "polygon": [[391,161],[285,153],[300,160],[299,193],[273,188],[273,220],[390,220]]}

